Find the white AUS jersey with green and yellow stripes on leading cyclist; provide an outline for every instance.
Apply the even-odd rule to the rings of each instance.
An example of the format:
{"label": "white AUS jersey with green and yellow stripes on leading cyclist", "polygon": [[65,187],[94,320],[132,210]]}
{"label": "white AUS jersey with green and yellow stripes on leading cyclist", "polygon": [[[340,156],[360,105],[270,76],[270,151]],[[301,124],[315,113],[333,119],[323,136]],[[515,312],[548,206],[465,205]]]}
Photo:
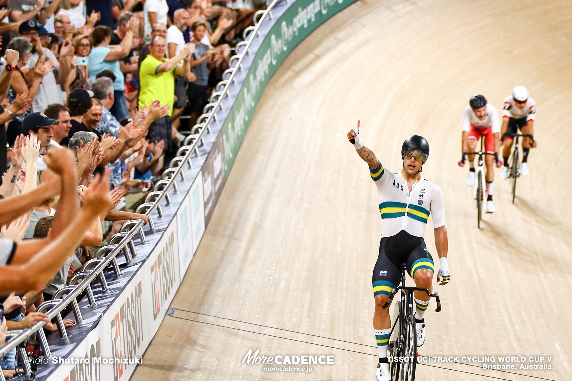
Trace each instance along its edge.
{"label": "white AUS jersey with green and yellow stripes on leading cyclist", "polygon": [[433,227],[445,224],[445,204],[439,186],[420,177],[409,192],[402,173],[389,172],[381,164],[376,169],[370,168],[370,174],[378,186],[382,238],[395,236],[402,230],[423,237],[431,212]]}

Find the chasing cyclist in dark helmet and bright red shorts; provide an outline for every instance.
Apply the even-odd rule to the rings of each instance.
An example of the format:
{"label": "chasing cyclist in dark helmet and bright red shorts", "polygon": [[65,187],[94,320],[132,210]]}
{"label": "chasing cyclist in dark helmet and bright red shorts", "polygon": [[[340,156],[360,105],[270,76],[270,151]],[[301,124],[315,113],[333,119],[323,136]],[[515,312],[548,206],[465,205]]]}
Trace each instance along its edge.
{"label": "chasing cyclist in dark helmet and bright red shorts", "polygon": [[[495,156],[485,155],[484,165],[487,168],[487,213],[495,211],[495,204],[492,202],[493,181],[495,179],[494,161],[496,166],[502,165],[498,160],[498,150],[500,146],[501,128],[499,125],[499,114],[495,106],[488,104],[486,98],[480,94],[471,97],[469,105],[463,110],[463,139],[461,142],[463,152],[475,152],[476,143],[480,137],[484,136],[484,150],[494,153]],[[475,185],[475,155],[467,155],[469,172],[467,175],[467,185]],[[465,156],[459,161],[460,166],[464,166]]]}

